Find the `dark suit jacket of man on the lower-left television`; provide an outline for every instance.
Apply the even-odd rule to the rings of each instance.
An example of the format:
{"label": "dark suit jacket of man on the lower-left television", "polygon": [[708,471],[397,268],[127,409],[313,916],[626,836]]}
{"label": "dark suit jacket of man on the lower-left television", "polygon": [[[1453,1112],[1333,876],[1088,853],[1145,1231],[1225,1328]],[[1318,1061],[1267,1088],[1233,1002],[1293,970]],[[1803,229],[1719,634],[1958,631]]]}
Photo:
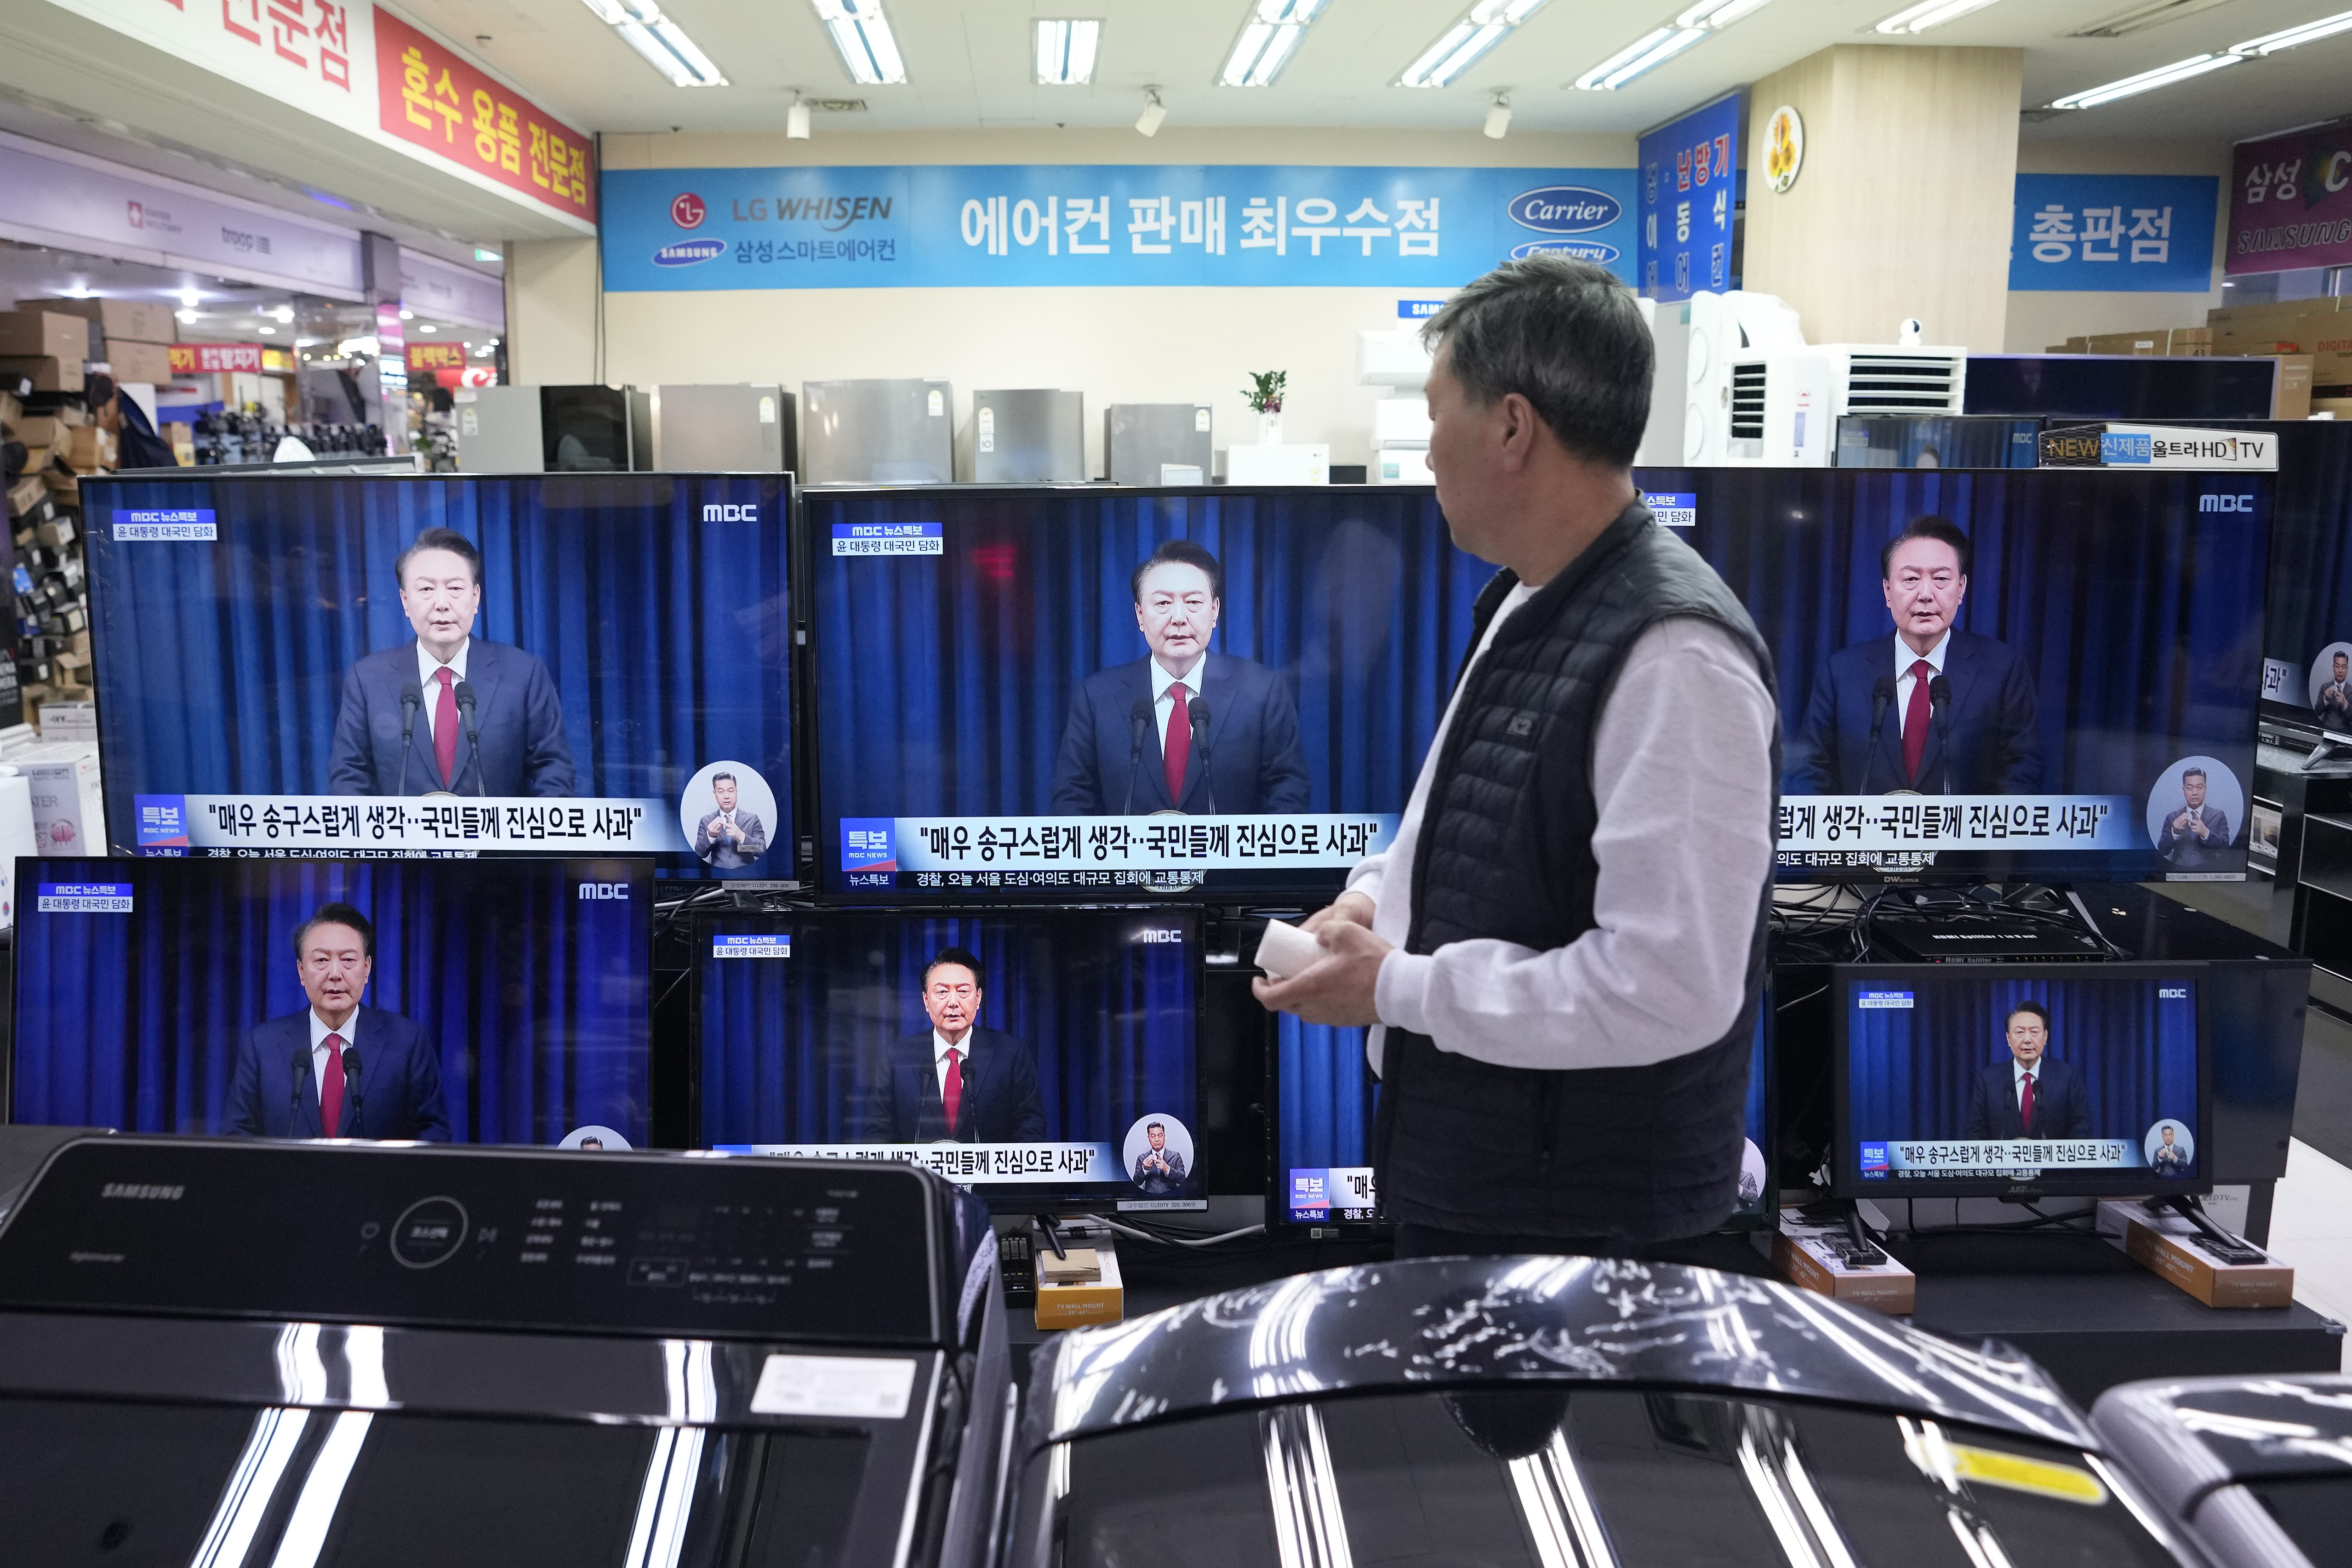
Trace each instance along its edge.
{"label": "dark suit jacket of man on the lower-left television", "polygon": [[[449,1143],[449,1112],[440,1098],[440,1053],[426,1032],[400,1013],[362,1006],[350,1044],[360,1051],[360,1110],[343,1095],[336,1138],[421,1138]],[[294,1091],[294,1051],[303,1053],[301,1093]],[[310,1013],[270,1018],[238,1041],[238,1074],[228,1081],[221,1128],[242,1138],[325,1138],[318,1081],[310,1077]]]}

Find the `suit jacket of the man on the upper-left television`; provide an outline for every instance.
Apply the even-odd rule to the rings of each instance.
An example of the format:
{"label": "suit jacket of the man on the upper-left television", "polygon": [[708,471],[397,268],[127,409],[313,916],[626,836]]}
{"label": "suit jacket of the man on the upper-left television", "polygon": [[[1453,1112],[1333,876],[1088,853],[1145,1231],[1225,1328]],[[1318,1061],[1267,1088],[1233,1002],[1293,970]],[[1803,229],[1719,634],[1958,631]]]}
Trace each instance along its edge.
{"label": "suit jacket of the man on the upper-left television", "polygon": [[[350,665],[343,677],[343,710],[334,719],[334,752],[327,762],[332,795],[390,795],[400,788],[400,689],[416,679],[416,644],[383,649]],[[456,790],[459,795],[572,795],[572,743],[555,679],[539,656],[503,642],[475,637],[466,644],[466,684],[473,686],[473,726],[482,755],[456,736],[456,778],[442,780],[433,759],[433,726],[426,710],[409,731],[407,795]],[[426,708],[440,686],[423,691]]]}

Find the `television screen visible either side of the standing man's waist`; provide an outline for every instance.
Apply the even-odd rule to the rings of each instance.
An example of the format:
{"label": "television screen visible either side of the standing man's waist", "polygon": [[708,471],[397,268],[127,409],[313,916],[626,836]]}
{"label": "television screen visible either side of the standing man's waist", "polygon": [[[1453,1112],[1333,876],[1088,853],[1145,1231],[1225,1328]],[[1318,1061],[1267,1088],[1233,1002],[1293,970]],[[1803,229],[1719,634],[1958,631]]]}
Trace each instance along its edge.
{"label": "television screen visible either side of the standing man's waist", "polygon": [[[1771,1225],[1778,1213],[1771,1018],[1766,990],[1748,1056],[1738,1206],[1724,1229]],[[1291,1013],[1275,1020],[1275,1192],[1265,1213],[1291,1225],[1371,1222],[1378,1218],[1371,1164],[1378,1079],[1364,1056],[1369,1030],[1301,1023]]]}

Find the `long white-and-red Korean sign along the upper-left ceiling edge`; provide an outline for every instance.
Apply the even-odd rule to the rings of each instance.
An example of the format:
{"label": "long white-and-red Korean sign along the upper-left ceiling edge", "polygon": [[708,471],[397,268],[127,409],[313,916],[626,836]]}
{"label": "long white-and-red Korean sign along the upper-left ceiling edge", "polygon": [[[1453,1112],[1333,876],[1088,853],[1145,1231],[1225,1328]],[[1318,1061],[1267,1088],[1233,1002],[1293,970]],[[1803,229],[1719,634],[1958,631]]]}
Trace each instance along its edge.
{"label": "long white-and-red Korean sign along the upper-left ceiling edge", "polygon": [[595,223],[590,139],[381,5],[49,2],[473,186],[553,212],[581,233]]}

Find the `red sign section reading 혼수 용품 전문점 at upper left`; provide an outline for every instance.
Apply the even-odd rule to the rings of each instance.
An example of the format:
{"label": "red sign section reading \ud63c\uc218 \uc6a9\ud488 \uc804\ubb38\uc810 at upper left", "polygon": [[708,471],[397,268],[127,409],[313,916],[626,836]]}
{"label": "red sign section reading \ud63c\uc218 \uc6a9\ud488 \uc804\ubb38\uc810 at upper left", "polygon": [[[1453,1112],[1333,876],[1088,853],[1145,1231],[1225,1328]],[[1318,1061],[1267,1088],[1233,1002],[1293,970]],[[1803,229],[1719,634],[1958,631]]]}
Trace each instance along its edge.
{"label": "red sign section reading \ud63c\uc218 \uc6a9\ud488 \uc804\ubb38\uc810 at upper left", "polygon": [[595,221],[588,139],[376,7],[376,108],[388,134]]}

